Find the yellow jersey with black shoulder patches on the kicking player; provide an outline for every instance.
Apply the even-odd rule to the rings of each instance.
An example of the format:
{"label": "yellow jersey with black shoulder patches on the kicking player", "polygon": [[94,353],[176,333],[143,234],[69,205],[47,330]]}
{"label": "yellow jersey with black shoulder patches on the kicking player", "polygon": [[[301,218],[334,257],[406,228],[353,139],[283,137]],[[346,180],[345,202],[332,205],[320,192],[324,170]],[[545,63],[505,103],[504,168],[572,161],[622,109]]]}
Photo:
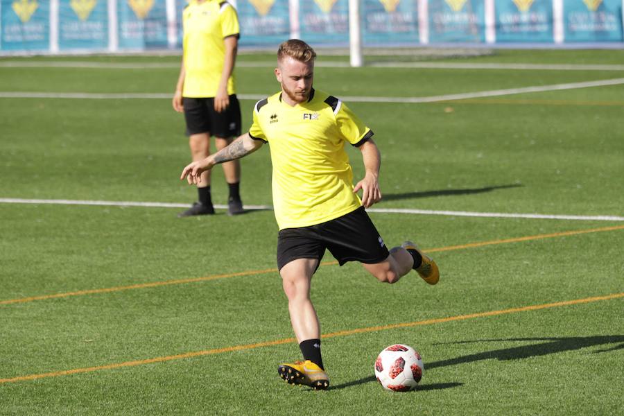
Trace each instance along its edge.
{"label": "yellow jersey with black shoulder patches on the kicking player", "polygon": [[311,92],[291,107],[281,93],[258,101],[249,130],[268,142],[279,229],[333,220],[361,206],[345,143],[360,146],[373,133],[338,98]]}

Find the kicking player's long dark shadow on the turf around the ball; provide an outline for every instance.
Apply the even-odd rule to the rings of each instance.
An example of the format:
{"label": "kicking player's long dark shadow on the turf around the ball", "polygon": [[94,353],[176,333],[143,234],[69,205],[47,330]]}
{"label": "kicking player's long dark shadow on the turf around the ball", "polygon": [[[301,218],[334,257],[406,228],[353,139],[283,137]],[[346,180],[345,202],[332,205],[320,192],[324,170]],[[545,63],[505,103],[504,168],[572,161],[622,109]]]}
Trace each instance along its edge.
{"label": "kicking player's long dark shadow on the turf around the ball", "polygon": [[[557,352],[573,351],[575,349],[595,347],[596,345],[617,344],[612,347],[598,349],[593,354],[602,352],[616,351],[624,349],[624,335],[607,335],[607,336],[575,336],[566,338],[503,338],[500,340],[474,340],[474,341],[458,341],[456,343],[440,343],[436,345],[447,344],[468,344],[468,343],[502,343],[510,341],[528,342],[528,341],[544,341],[541,343],[532,343],[530,345],[522,345],[521,347],[511,347],[503,349],[494,349],[492,351],[478,352],[457,358],[449,358],[448,360],[434,361],[433,363],[425,362],[425,372],[437,367],[447,367],[449,365],[467,364],[474,361],[498,359],[499,361],[519,360],[521,358],[530,358],[535,356],[544,356],[555,354]],[[364,383],[376,383],[374,376],[365,377],[349,383],[330,386],[329,390],[339,390],[352,387]],[[419,385],[416,391],[422,390],[442,390],[445,388],[453,388],[463,383],[434,383]]]}

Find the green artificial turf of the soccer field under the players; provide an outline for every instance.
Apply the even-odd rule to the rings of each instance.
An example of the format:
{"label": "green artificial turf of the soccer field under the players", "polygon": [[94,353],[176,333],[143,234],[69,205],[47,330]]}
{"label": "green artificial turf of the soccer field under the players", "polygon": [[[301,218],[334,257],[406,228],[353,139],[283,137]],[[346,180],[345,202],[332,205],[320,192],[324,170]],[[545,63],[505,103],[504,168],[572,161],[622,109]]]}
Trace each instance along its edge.
{"label": "green artificial turf of the soccer field under the players", "polygon": [[[622,51],[499,50],[442,61],[622,58]],[[2,65],[24,61],[166,65]],[[175,62],[6,58],[0,92],[168,94]],[[241,94],[279,87],[270,65],[237,73]],[[623,73],[319,66],[315,87],[339,97],[421,97]],[[375,208],[621,218],[623,97],[624,86],[612,85],[443,103],[345,103],[381,149],[384,198]],[[254,102],[241,100],[243,131]],[[0,198],[196,198],[178,179],[189,150],[183,117],[168,98],[4,97],[0,114]],[[361,177],[361,155],[347,150]],[[241,164],[245,205],[272,205],[267,146]],[[219,167],[212,189],[214,202],[224,204]],[[312,298],[331,389],[314,392],[277,376],[277,364],[300,352],[289,340],[275,271],[272,211],[176,218],[181,209],[0,203],[0,415],[622,413],[623,221],[372,211],[388,245],[413,239],[431,252],[440,284],[428,286],[415,273],[379,284],[356,263],[336,266],[327,253]],[[576,300],[584,301],[568,302]],[[393,343],[423,356],[415,392],[387,392],[374,379],[376,355]]]}

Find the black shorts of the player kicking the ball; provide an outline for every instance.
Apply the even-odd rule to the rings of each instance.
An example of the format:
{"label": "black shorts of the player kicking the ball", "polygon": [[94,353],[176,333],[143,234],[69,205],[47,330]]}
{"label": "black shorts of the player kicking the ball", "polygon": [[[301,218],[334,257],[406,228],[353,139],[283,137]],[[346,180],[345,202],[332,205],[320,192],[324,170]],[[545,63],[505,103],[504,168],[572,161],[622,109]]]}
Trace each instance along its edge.
{"label": "black shorts of the player kicking the ball", "polygon": [[[285,228],[277,236],[277,268],[296,259],[318,259],[325,249],[340,266],[347,261],[379,263],[390,255],[364,207],[309,227]],[[317,266],[318,267],[318,266]]]}

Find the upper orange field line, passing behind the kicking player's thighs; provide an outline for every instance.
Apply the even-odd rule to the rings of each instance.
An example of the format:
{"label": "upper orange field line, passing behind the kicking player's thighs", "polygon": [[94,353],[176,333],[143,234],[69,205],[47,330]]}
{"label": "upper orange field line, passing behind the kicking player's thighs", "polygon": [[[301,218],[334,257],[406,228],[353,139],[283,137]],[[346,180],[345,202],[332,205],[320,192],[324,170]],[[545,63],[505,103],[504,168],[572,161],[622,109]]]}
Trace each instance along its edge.
{"label": "upper orange field line, passing behind the kicking player's thighs", "polygon": [[[483,247],[484,245],[518,243],[520,241],[531,241],[531,240],[539,240],[539,239],[552,239],[554,237],[573,236],[573,235],[577,235],[577,234],[587,234],[587,233],[593,233],[593,232],[607,232],[607,231],[614,231],[616,229],[624,229],[624,225],[614,225],[613,227],[580,229],[580,230],[566,231],[566,232],[555,232],[555,233],[551,233],[551,234],[537,234],[537,235],[534,235],[534,236],[516,237],[516,238],[513,238],[513,239],[503,239],[503,240],[481,241],[479,243],[469,243],[469,244],[462,244],[462,245],[450,245],[448,247],[442,247],[442,248],[431,248],[431,249],[426,250],[426,252],[433,253],[433,252],[444,252],[444,251],[451,251],[451,250],[463,250],[465,248]],[[338,264],[338,261],[324,261],[324,262],[322,262],[320,264],[320,266],[333,266],[335,264]],[[59,298],[59,297],[93,295],[93,294],[96,294],[96,293],[110,293],[110,292],[128,291],[128,290],[131,290],[131,289],[153,288],[153,287],[157,287],[157,286],[168,286],[168,285],[172,285],[172,284],[195,283],[195,282],[198,282],[198,281],[227,279],[228,277],[262,275],[264,273],[277,273],[277,268],[269,268],[269,269],[264,269],[264,270],[248,270],[248,271],[245,271],[245,272],[227,273],[225,275],[211,275],[211,276],[206,276],[206,277],[193,277],[193,278],[190,278],[190,279],[175,279],[175,280],[165,280],[165,281],[153,281],[153,282],[150,282],[150,283],[132,284],[130,286],[114,286],[112,288],[87,289],[85,291],[55,293],[53,295],[40,295],[40,296],[31,296],[31,297],[20,297],[18,299],[1,300],[0,301],[0,305],[33,302],[35,300],[56,299],[56,298]]]}

